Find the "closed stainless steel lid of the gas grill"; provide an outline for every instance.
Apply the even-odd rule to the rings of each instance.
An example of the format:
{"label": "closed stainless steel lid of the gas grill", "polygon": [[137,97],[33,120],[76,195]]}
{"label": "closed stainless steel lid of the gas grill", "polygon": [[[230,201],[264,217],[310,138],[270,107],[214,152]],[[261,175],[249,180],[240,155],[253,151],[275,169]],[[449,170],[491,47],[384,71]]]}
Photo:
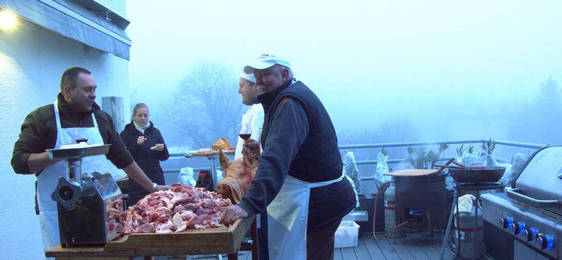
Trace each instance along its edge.
{"label": "closed stainless steel lid of the gas grill", "polygon": [[562,215],[562,146],[533,153],[518,172],[507,196]]}

